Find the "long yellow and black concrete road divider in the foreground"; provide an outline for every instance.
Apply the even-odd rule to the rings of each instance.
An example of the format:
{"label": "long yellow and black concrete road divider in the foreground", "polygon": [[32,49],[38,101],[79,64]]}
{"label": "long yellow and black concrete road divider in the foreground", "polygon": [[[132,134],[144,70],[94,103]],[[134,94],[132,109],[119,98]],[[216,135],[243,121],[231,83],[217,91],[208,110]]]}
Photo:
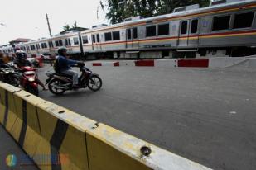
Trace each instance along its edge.
{"label": "long yellow and black concrete road divider in the foreground", "polygon": [[1,124],[40,169],[210,170],[5,83],[0,95]]}

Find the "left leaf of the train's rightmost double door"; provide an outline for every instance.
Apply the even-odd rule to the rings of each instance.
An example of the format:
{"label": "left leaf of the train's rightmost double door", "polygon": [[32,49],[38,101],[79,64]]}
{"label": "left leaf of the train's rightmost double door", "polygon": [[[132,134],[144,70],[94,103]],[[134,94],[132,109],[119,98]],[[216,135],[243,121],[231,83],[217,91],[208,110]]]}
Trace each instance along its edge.
{"label": "left leaf of the train's rightmost double door", "polygon": [[188,45],[188,28],[189,20],[183,20],[180,22],[178,47],[186,47]]}

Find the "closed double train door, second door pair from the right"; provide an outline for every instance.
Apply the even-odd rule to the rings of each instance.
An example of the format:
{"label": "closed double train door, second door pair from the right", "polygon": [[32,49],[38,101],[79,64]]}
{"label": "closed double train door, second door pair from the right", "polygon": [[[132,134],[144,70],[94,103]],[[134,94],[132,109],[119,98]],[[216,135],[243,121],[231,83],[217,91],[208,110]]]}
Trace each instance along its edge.
{"label": "closed double train door, second door pair from the right", "polygon": [[138,49],[138,28],[129,28],[126,30],[126,47],[128,49]]}

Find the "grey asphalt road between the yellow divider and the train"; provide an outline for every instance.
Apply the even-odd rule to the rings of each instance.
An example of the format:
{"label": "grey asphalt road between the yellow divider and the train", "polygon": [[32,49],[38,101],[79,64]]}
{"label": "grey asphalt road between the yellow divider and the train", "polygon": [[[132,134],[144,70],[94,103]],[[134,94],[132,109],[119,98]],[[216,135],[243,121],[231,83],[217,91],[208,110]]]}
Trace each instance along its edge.
{"label": "grey asphalt road between the yellow divider and the train", "polygon": [[[42,80],[47,69],[39,71]],[[61,97],[50,92],[40,95],[207,167],[256,168],[256,70],[93,70],[103,78],[99,92],[85,89]]]}

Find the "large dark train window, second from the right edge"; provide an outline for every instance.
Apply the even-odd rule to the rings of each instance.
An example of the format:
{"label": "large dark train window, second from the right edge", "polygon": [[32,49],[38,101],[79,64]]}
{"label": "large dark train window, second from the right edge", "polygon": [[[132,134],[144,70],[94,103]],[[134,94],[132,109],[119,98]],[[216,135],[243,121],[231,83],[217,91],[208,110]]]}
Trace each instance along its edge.
{"label": "large dark train window, second from the right edge", "polygon": [[228,30],[230,16],[214,17],[212,31]]}

